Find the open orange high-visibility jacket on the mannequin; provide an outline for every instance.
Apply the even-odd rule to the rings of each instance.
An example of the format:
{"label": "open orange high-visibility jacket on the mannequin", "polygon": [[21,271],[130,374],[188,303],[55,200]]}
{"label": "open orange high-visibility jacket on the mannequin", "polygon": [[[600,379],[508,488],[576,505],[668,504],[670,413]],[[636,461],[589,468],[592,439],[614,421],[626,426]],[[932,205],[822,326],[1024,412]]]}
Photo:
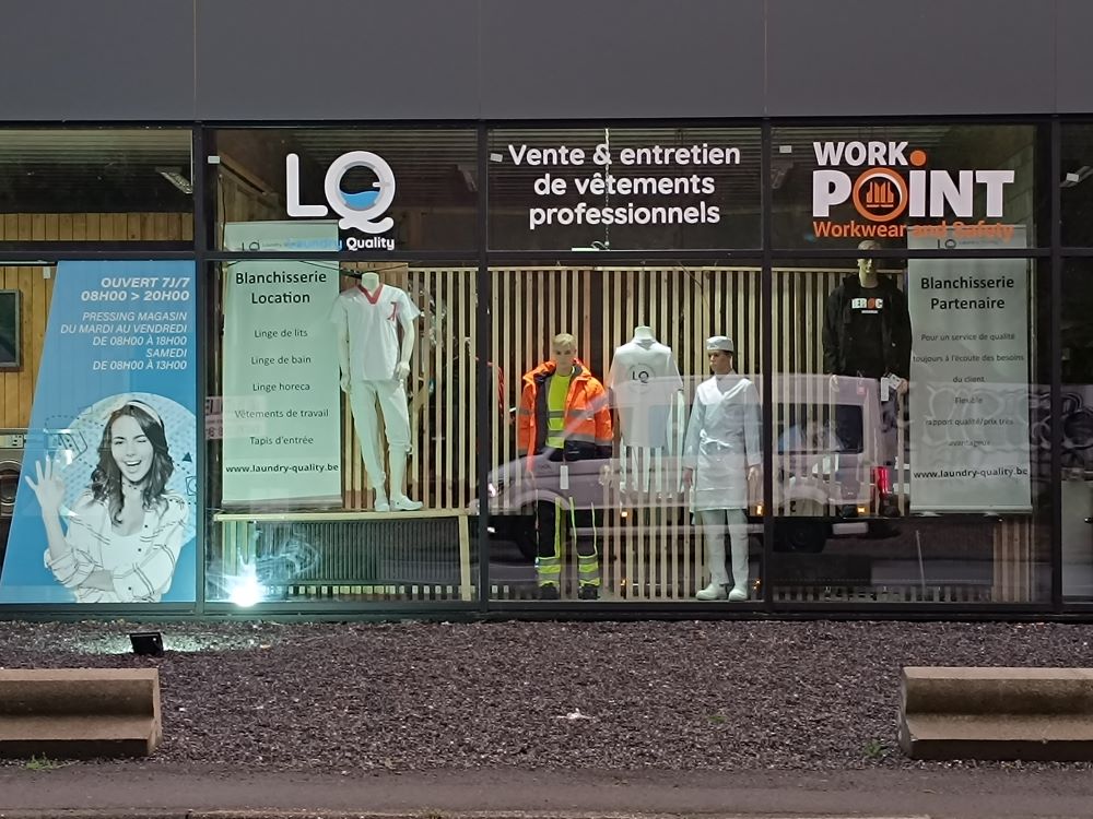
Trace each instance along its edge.
{"label": "open orange high-visibility jacket on the mannequin", "polygon": [[[517,412],[516,446],[530,458],[546,447],[549,408],[546,380],[554,375],[553,361],[524,373],[524,391]],[[611,411],[607,390],[579,360],[574,361],[569,393],[565,399],[564,461],[611,458]]]}

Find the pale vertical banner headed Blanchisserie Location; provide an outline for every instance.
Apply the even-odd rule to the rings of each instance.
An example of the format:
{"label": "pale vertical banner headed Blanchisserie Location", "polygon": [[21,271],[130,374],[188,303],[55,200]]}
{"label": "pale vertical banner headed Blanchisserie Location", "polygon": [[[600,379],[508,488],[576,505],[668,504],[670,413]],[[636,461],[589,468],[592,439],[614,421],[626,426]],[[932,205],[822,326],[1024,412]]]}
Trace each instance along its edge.
{"label": "pale vertical banner headed Blanchisserie Location", "polygon": [[[336,222],[225,225],[232,250],[337,250]],[[224,506],[341,501],[334,262],[224,264]]]}

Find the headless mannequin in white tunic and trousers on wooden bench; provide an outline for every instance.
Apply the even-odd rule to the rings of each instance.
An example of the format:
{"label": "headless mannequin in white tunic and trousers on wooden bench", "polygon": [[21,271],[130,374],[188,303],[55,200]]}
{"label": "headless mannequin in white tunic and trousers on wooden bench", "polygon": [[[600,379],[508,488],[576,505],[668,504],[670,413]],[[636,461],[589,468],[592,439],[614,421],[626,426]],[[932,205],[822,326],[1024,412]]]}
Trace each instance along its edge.
{"label": "headless mannequin in white tunic and trousers on wooden bench", "polygon": [[[361,440],[361,456],[368,480],[376,491],[377,512],[412,512],[422,503],[404,491],[407,458],[410,454],[410,411],[406,379],[410,356],[418,341],[414,320],[421,314],[404,290],[384,284],[374,272],[364,273],[361,284],[343,290],[334,304],[331,321],[338,332],[338,363],[341,389],[349,394],[353,424]],[[402,330],[399,342],[396,328]],[[384,414],[388,463],[391,470],[390,500],[385,486],[376,402]]]}

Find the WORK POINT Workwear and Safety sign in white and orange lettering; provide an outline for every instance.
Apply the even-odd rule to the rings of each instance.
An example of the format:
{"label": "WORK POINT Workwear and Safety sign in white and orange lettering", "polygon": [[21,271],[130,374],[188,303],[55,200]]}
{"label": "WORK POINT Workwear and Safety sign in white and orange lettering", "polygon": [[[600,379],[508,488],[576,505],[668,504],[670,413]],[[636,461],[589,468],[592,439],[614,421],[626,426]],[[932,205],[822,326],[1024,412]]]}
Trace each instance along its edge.
{"label": "WORK POINT Workwear and Safety sign in white and orange lettering", "polygon": [[[955,229],[965,237],[1007,239],[1006,232],[1013,232],[1012,225],[996,222],[1003,217],[1013,170],[931,169],[927,152],[907,142],[813,142],[812,150],[819,166],[812,171],[816,238],[943,238]],[[849,218],[833,217],[833,209]],[[908,225],[907,219],[926,222]]]}

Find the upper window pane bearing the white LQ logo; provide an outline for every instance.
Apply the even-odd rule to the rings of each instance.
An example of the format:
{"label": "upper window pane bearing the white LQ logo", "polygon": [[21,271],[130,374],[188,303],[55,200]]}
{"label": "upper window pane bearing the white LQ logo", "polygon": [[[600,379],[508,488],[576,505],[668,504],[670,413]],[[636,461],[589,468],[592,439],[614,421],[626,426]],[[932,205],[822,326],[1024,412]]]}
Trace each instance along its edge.
{"label": "upper window pane bearing the white LQ logo", "polygon": [[[478,134],[471,129],[250,129],[215,132],[213,247],[254,252],[330,249],[399,257],[478,247]],[[329,222],[332,247],[233,239],[228,225]],[[319,228],[321,230],[321,228]],[[287,235],[287,233],[284,233]],[[238,236],[238,235],[236,235]]]}

